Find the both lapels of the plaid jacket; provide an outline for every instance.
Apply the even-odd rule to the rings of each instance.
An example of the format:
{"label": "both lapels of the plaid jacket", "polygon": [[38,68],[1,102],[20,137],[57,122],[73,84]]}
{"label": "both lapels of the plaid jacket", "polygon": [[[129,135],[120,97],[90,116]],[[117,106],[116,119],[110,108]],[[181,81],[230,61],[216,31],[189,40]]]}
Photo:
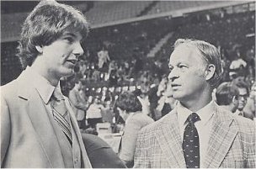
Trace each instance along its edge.
{"label": "both lapels of the plaid jacket", "polygon": [[[233,124],[232,113],[222,110],[214,103],[213,124],[202,167],[216,168],[221,166],[233,140],[237,135],[237,126]],[[163,153],[168,158],[170,167],[185,168],[182,140],[179,131],[178,113],[176,108],[159,120],[155,136]]]}

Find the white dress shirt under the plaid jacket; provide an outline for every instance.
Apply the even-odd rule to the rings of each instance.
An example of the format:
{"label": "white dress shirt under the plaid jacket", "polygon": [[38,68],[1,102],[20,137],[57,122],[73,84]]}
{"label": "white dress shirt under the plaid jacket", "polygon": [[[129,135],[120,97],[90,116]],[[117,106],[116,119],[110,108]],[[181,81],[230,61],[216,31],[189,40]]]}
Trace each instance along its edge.
{"label": "white dress shirt under the plaid jacket", "polygon": [[179,129],[180,135],[183,141],[184,138],[184,129],[187,126],[185,124],[186,119],[188,119],[189,114],[196,113],[200,117],[200,121],[195,122],[195,127],[198,131],[199,141],[200,141],[200,167],[204,162],[206,156],[206,150],[208,146],[208,141],[210,138],[210,131],[211,131],[211,124],[212,124],[212,117],[214,115],[214,102],[211,101],[204,108],[196,112],[190,111],[188,108],[184,108],[184,106],[179,103],[177,105],[177,112],[178,112],[178,120],[179,120]]}

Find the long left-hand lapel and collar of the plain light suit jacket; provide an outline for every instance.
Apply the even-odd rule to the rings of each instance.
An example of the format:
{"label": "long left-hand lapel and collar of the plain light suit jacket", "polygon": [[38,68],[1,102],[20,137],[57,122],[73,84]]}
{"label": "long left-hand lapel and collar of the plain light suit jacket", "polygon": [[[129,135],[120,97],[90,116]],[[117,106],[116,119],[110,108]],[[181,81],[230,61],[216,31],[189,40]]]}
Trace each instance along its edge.
{"label": "long left-hand lapel and collar of the plain light suit jacket", "polygon": [[[51,166],[64,167],[64,162],[61,160],[61,151],[54,151],[61,150],[61,147],[58,144],[47,109],[40,98],[40,94],[34,87],[29,86],[29,82],[31,82],[29,75],[24,74],[26,74],[26,72],[23,72],[18,80],[19,87],[23,89],[19,90],[19,98],[27,100],[26,112],[29,116],[31,124],[35,129],[35,133],[37,134],[40,145],[45,151],[45,156],[47,156]],[[51,144],[49,144],[49,140],[51,140]],[[52,147],[54,147],[54,150]]]}

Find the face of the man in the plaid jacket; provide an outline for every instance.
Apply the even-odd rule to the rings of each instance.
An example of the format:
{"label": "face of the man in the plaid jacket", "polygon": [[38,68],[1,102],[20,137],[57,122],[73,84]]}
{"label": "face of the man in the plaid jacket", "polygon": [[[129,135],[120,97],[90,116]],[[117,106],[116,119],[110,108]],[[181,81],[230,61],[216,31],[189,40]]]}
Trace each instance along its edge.
{"label": "face of the man in the plaid jacket", "polygon": [[201,96],[205,87],[205,63],[197,51],[187,47],[177,47],[168,64],[170,73],[168,78],[173,89],[173,98],[186,102]]}

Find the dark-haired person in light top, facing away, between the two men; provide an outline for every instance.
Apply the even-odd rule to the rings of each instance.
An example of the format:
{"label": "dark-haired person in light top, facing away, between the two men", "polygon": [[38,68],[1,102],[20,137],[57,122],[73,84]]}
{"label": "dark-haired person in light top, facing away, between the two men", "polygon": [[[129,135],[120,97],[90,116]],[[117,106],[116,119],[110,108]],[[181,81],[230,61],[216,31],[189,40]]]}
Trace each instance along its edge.
{"label": "dark-haired person in light top, facing away, between the two men", "polygon": [[125,120],[119,156],[122,161],[125,161],[126,166],[132,167],[138,132],[154,120],[142,113],[141,102],[132,92],[122,92],[115,101],[115,108],[119,111],[120,117]]}

